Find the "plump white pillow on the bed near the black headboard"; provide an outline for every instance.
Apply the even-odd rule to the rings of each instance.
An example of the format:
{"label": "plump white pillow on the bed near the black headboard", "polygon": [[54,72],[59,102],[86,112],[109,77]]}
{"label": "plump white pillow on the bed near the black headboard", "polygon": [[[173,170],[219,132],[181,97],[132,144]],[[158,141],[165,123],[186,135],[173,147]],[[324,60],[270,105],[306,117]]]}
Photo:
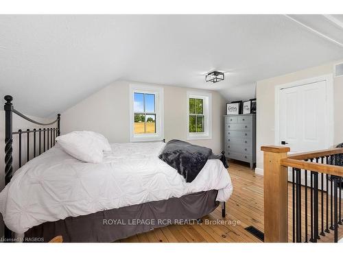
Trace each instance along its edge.
{"label": "plump white pillow on the bed near the black headboard", "polygon": [[58,136],[56,141],[62,149],[83,162],[99,163],[104,158],[104,144],[88,132],[75,131]]}

